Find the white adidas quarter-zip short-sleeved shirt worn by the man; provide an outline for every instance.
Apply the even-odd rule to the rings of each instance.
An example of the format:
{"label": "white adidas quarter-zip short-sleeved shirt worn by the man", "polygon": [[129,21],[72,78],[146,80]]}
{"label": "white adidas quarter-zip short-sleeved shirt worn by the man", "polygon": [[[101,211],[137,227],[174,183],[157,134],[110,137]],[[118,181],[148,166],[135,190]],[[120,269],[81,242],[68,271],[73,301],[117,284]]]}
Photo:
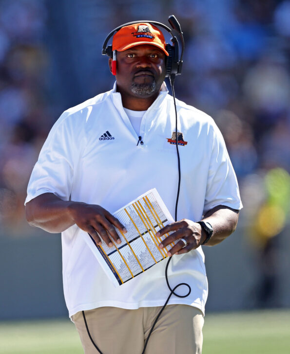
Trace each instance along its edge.
{"label": "white adidas quarter-zip short-sleeved shirt worn by the man", "polygon": [[[181,185],[177,218],[198,221],[217,205],[241,209],[238,185],[220,131],[205,113],[176,100]],[[173,98],[166,87],[144,114],[138,136],[114,89],[66,110],[52,127],[33,169],[25,203],[43,193],[62,200],[99,204],[115,212],[156,188],[174,216],[178,182]],[[135,309],[161,306],[169,295],[161,261],[115,288],[84,242],[76,225],[62,232],[63,288],[72,316],[101,306]],[[89,237],[89,236],[88,236]],[[170,304],[195,306],[204,312],[208,283],[201,247],[174,255],[169,282],[189,283],[187,298]],[[179,289],[184,294],[187,289]]]}

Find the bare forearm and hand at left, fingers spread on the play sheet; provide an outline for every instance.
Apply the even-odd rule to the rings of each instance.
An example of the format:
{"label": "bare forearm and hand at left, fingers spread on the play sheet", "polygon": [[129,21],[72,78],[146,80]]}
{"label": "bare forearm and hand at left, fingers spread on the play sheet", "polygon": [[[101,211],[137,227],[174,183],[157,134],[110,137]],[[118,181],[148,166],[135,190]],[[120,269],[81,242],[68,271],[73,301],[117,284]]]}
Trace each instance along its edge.
{"label": "bare forearm and hand at left, fingers spread on the play sheet", "polygon": [[112,240],[121,242],[114,226],[122,233],[127,232],[119,220],[101,206],[64,201],[53,193],[44,193],[30,200],[25,211],[32,226],[56,233],[77,224],[93,237],[97,245],[101,245],[102,240],[109,247],[113,246]]}

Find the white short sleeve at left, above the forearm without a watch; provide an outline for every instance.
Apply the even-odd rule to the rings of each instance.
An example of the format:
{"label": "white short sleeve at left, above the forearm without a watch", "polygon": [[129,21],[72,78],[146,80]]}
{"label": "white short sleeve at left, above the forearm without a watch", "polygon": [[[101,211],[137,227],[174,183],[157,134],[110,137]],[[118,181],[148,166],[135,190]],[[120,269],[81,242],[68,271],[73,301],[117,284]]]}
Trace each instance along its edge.
{"label": "white short sleeve at left, above the forearm without a watch", "polygon": [[25,204],[43,193],[69,200],[76,154],[72,124],[64,112],[52,127],[39,154],[27,187]]}

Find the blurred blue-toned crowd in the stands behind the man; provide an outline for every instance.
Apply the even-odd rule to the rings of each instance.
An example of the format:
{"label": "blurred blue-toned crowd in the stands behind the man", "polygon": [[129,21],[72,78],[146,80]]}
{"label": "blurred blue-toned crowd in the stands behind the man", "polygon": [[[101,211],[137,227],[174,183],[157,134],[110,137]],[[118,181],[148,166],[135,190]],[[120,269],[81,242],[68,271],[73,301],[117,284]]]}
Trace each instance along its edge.
{"label": "blurred blue-toned crowd in the stands behind the man", "polygon": [[239,230],[259,270],[252,303],[280,306],[277,264],[290,207],[290,0],[0,0],[0,237],[38,232],[24,217],[28,179],[62,111],[112,88],[101,55],[106,35],[132,20],[168,24],[171,14],[185,38],[176,97],[213,117],[239,181]]}

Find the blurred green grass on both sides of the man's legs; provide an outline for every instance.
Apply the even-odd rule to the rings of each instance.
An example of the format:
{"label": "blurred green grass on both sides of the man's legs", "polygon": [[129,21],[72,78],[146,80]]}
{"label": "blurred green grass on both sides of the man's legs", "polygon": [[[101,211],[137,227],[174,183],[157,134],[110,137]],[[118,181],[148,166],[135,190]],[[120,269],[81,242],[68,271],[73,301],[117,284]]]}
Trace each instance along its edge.
{"label": "blurred green grass on both sides of the man's legs", "polygon": [[[203,335],[203,354],[289,354],[290,310],[208,314]],[[0,353],[83,351],[74,324],[60,319],[0,322]]]}

